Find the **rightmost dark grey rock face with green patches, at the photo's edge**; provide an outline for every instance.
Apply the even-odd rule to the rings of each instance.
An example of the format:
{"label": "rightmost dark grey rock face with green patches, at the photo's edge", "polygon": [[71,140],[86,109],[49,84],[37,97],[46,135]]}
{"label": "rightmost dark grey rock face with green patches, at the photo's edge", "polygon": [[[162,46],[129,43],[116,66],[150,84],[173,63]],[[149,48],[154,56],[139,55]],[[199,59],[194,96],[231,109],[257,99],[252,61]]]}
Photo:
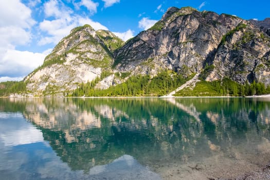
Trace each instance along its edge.
{"label": "rightmost dark grey rock face with green patches, at the photo's edge", "polygon": [[229,77],[239,83],[246,80],[270,84],[269,50],[270,37],[253,24],[243,21],[235,32],[227,34],[212,64],[212,77]]}

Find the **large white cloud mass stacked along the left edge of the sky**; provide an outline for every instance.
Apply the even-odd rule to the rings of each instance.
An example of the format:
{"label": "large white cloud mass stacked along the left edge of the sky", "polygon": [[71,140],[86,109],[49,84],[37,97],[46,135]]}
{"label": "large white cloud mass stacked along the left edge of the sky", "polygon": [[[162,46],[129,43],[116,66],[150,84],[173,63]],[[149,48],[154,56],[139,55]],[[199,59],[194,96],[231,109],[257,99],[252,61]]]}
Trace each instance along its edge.
{"label": "large white cloud mass stacked along the left edge of the sky", "polygon": [[[29,1],[30,5],[40,1]],[[15,50],[18,45],[31,42],[31,30],[35,21],[31,9],[20,0],[9,0],[0,6],[0,81],[21,80],[42,64],[45,55]]]}

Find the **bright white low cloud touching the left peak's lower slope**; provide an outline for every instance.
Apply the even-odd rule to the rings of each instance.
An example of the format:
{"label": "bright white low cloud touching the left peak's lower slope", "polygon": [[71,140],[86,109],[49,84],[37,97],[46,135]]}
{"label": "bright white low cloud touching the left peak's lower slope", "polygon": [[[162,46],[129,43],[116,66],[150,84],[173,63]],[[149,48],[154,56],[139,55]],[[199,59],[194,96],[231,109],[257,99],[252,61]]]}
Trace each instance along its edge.
{"label": "bright white low cloud touching the left peak's lower slope", "polygon": [[42,65],[45,55],[8,49],[0,59],[0,77],[22,77]]}

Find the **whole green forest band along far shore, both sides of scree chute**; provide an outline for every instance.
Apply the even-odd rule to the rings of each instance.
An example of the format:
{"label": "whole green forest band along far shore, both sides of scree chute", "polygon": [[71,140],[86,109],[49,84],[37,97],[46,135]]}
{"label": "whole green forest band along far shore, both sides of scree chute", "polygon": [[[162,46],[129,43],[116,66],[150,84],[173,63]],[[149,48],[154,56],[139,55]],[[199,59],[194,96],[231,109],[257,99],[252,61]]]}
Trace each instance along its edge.
{"label": "whole green forest band along far shore, both sides of scree chute", "polygon": [[[69,96],[164,96],[177,87],[184,84],[194,75],[184,78],[182,75],[169,70],[161,71],[154,78],[146,76],[131,76],[127,81],[111,86],[108,89],[96,89],[95,85],[100,80],[81,83],[79,87]],[[252,96],[270,94],[270,86],[261,82],[244,84],[237,83],[224,78],[218,81],[208,82],[202,77],[193,89],[185,88],[177,92],[175,96]]]}

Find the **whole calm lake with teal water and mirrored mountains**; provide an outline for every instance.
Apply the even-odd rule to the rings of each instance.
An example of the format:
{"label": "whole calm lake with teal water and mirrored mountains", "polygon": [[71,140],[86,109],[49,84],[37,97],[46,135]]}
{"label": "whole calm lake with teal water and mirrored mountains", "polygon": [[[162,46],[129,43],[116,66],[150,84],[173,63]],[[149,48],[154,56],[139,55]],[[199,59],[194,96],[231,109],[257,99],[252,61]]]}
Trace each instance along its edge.
{"label": "whole calm lake with teal water and mirrored mountains", "polygon": [[269,99],[0,98],[1,179],[231,178],[269,140]]}

